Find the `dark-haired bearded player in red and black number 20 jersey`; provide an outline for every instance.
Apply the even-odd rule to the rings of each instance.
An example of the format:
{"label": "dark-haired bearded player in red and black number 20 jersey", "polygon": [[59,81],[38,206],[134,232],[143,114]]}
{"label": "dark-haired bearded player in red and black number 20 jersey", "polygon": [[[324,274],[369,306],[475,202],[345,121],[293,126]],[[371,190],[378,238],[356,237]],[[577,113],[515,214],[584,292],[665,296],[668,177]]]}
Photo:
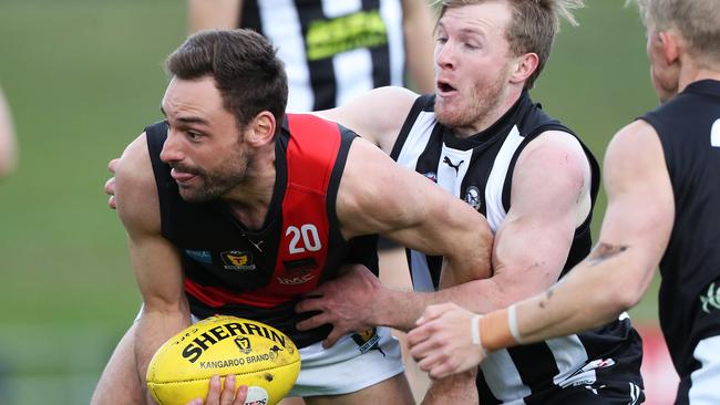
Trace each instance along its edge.
{"label": "dark-haired bearded player in red and black number 20 jersey", "polygon": [[144,377],[157,347],[223,313],[268,323],[300,347],[290,396],[412,403],[387,328],[325,349],[330,328],[299,331],[307,316],[294,308],[344,266],[377,271],[376,233],[444,256],[448,285],[487,277],[487,222],[351,131],[285,114],[281,62],[257,33],[197,33],[167,69],[166,121],[147,126],[116,167],[117,211],[144,305],[92,402],[150,401]]}

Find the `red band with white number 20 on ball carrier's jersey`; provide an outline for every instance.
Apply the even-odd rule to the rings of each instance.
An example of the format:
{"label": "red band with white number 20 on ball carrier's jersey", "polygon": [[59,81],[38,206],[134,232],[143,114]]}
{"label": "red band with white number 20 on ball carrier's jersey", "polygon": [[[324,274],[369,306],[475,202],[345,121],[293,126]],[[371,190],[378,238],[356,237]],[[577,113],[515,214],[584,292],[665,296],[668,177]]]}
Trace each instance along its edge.
{"label": "red band with white number 20 on ball carrier's jersey", "polygon": [[[341,144],[337,124],[313,115],[288,114],[288,181],[274,273],[263,288],[235,293],[185,279],[185,290],[207,305],[272,308],[312,290],[328,256],[330,225],[326,198]],[[278,157],[279,158],[279,157]]]}

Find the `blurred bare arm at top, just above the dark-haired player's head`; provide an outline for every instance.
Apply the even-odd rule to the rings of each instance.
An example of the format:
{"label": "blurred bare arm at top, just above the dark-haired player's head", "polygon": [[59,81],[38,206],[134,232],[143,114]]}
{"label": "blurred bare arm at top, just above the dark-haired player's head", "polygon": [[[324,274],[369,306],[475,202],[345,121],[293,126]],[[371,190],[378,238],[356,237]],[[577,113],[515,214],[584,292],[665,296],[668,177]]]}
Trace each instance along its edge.
{"label": "blurred bare arm at top, just above the dark-haired player's head", "polygon": [[191,32],[239,28],[241,9],[243,0],[188,0]]}

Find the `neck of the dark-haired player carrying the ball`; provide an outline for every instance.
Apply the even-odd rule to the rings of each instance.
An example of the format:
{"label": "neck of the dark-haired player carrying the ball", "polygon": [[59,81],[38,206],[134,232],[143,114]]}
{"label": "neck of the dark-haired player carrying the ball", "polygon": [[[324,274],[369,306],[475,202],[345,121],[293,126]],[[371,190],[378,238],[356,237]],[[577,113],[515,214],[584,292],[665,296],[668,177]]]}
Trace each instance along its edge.
{"label": "neck of the dark-haired player carrying the ball", "polygon": [[265,224],[275,190],[275,145],[270,144],[264,148],[266,149],[256,150],[248,159],[243,183],[223,197],[237,219],[251,230],[260,229]]}

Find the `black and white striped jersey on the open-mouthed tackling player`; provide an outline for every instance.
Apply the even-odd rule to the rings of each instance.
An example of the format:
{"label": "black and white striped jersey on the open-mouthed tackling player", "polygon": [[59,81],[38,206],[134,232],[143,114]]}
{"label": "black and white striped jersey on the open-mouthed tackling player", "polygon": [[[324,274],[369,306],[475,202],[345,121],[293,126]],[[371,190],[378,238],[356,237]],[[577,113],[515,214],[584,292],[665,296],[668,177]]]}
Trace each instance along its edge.
{"label": "black and white striped jersey on the open-mouthed tackling player", "polygon": [[[523,148],[546,131],[573,134],[548,117],[527,92],[490,128],[469,138],[439,124],[434,95],[420,96],[393,147],[392,157],[413,168],[484,215],[494,231],[510,209],[513,169]],[[574,134],[573,134],[574,135]],[[593,204],[599,187],[599,168],[585,148],[593,172]],[[592,248],[590,218],[575,231],[563,274],[584,259]],[[442,258],[409,251],[415,290],[438,287]],[[482,298],[479,298],[482,299]],[[627,315],[593,332],[501,350],[481,365],[477,377],[482,404],[548,404],[562,388],[599,387],[604,378],[627,381],[639,395],[641,341]],[[617,377],[617,378],[615,378]],[[635,385],[632,385],[635,384]]]}

